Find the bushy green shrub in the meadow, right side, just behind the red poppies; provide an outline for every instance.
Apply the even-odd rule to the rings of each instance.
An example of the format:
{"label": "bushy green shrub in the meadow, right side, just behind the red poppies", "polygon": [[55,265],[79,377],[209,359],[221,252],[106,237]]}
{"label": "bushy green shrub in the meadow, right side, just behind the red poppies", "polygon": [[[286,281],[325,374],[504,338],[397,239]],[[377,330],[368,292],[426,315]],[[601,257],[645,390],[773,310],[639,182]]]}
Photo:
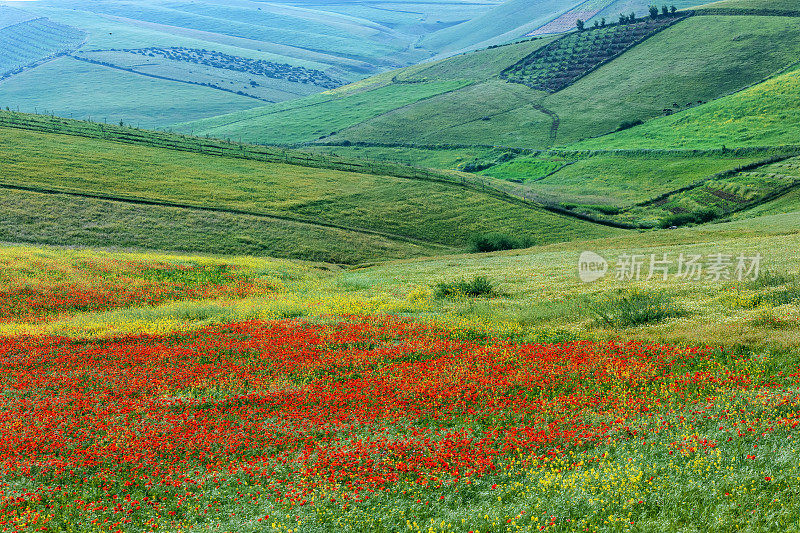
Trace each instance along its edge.
{"label": "bushy green shrub in the meadow, right side, just behind the red poppies", "polygon": [[663,291],[619,290],[589,302],[588,307],[600,325],[611,328],[652,324],[686,314]]}

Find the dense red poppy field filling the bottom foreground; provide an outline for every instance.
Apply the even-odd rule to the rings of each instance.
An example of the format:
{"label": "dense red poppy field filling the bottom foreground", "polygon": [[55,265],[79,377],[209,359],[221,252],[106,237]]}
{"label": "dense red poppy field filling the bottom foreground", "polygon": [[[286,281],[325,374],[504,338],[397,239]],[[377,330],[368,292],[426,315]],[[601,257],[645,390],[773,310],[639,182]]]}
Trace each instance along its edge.
{"label": "dense red poppy field filling the bottom foreground", "polygon": [[785,531],[800,374],[765,364],[385,317],[7,337],[0,530]]}

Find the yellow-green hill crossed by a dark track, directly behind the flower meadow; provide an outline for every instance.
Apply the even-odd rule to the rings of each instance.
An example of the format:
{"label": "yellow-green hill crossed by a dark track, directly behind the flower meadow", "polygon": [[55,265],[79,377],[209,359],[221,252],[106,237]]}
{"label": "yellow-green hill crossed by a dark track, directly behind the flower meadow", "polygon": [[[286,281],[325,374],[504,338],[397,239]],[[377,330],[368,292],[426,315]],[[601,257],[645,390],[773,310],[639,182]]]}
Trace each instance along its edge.
{"label": "yellow-green hill crossed by a dark track, directly behind the flower meadow", "polygon": [[[13,117],[17,126],[28,120]],[[70,131],[80,125],[65,124]],[[491,232],[556,242],[620,231],[444,179],[265,162],[234,146],[231,156],[177,151],[143,145],[146,133],[119,127],[87,124],[82,132],[143,140],[120,150],[110,140],[0,129],[0,240],[357,263],[464,250],[473,236]],[[154,144],[168,140],[152,138]],[[235,229],[217,242],[229,226]]]}

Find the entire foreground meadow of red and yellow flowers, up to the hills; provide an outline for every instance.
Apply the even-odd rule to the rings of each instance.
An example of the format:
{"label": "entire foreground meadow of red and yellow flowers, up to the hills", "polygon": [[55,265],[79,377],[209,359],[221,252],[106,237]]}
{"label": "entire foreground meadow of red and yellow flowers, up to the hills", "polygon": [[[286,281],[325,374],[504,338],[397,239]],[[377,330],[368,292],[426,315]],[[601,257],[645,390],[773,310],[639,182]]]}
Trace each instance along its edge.
{"label": "entire foreground meadow of red and yellow flowers, up to the hills", "polygon": [[[4,246],[0,522],[791,530],[797,221],[351,270]],[[583,250],[763,263],[585,284]]]}

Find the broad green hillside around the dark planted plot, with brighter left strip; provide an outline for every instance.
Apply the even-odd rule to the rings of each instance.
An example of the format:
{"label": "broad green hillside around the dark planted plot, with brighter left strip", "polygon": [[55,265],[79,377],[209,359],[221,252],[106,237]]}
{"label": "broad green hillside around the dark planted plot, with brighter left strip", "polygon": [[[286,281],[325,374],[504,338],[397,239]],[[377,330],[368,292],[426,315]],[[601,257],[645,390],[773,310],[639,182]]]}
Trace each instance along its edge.
{"label": "broad green hillside around the dark planted plot, with brighter left strip", "polygon": [[[599,34],[603,29],[585,34],[591,36],[595,31]],[[241,134],[267,144],[308,142],[319,134],[325,136],[322,142],[339,144],[542,149],[697,107],[800,60],[796,18],[696,16],[664,29],[552,94],[500,78],[505,69],[552,39],[501,46],[379,75],[333,91],[337,98],[327,102],[319,97],[296,100],[280,114],[275,111],[284,108],[264,107],[179,128],[233,138]],[[578,44],[576,41],[575,46]],[[392,104],[383,96],[458,80],[465,80],[465,85],[448,86],[438,95],[431,91],[417,101],[409,97]],[[371,104],[372,100],[377,105]],[[315,109],[313,115],[306,114],[306,105]],[[358,113],[319,126],[319,115],[338,117],[340,109],[351,106]]]}

